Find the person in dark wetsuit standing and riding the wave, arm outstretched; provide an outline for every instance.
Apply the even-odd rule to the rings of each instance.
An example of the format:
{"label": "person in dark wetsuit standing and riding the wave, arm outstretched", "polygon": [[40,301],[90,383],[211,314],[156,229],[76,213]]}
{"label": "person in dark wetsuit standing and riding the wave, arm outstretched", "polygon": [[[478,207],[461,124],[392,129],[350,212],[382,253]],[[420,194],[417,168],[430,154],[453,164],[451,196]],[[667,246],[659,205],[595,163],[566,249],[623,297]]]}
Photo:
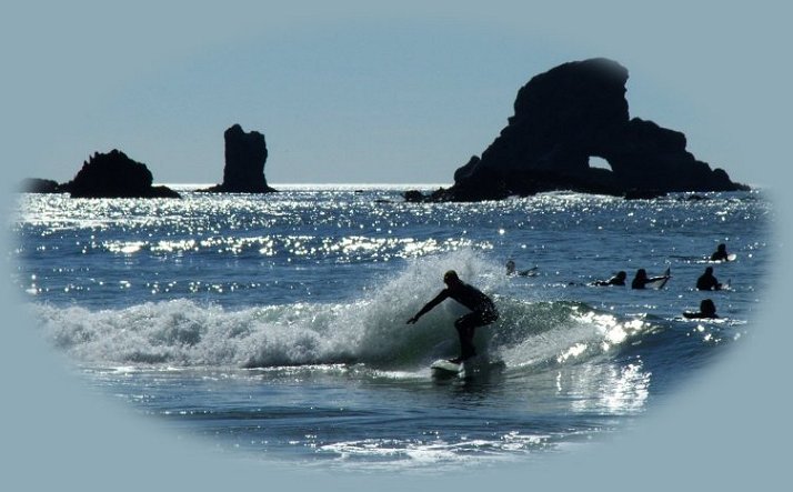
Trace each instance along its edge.
{"label": "person in dark wetsuit standing and riding the wave, arm outstretched", "polygon": [[454,270],[449,270],[443,275],[443,283],[446,284],[446,288],[435,295],[433,300],[428,302],[426,305],[421,308],[413,318],[408,320],[408,324],[413,324],[419,321],[419,318],[426,314],[446,298],[452,298],[470,309],[470,313],[463,314],[454,322],[454,328],[456,328],[458,334],[460,335],[460,357],[450,359],[450,362],[459,364],[476,355],[476,350],[473,347],[473,331],[478,327],[484,327],[498,320],[499,311],[495,309],[492,299],[460,280]]}

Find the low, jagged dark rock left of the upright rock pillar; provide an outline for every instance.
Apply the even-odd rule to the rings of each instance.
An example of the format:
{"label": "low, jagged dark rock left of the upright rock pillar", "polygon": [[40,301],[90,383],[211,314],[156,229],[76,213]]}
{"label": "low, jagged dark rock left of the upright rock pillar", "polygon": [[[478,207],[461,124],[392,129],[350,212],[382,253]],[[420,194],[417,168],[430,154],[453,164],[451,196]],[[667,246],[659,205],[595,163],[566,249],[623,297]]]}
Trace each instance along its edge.
{"label": "low, jagged dark rock left of the upright rock pillar", "polygon": [[73,198],[180,198],[167,187],[152,187],[149,168],[113,149],[96,152],[74,179],[59,188]]}

